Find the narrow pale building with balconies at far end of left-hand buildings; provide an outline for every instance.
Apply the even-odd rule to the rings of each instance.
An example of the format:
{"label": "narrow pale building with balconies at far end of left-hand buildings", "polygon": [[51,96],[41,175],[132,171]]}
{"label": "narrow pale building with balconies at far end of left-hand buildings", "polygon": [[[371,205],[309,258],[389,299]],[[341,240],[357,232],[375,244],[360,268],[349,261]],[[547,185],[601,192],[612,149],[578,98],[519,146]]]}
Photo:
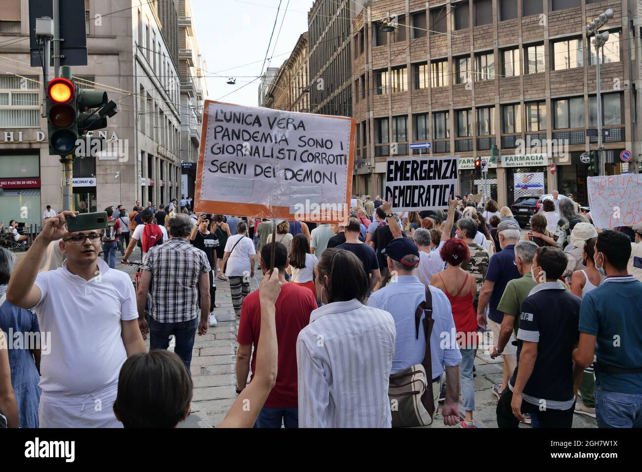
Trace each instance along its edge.
{"label": "narrow pale building with balconies at far end of left-hand buildings", "polygon": [[[180,74],[180,195],[194,197],[196,162],[200,149],[204,97],[207,96],[207,66],[198,49],[196,26],[189,0],[178,0],[179,44],[178,73]],[[178,199],[180,200],[180,195]]]}

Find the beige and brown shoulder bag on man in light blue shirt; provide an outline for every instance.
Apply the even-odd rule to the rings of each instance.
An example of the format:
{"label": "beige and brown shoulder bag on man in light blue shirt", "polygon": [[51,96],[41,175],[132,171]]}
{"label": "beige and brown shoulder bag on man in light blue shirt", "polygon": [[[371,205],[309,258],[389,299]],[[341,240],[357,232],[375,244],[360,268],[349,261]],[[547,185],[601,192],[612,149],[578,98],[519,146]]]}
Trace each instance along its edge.
{"label": "beige and brown shoulder bag on man in light blue shirt", "polygon": [[433,331],[433,297],[426,287],[426,301],[422,301],[415,310],[415,337],[419,340],[419,325],[422,313],[425,313],[423,327],[426,336],[426,352],[421,363],[411,365],[408,369],[390,376],[388,398],[392,413],[393,428],[411,426],[428,426],[435,414],[433,397],[432,361],[430,355],[430,335]]}

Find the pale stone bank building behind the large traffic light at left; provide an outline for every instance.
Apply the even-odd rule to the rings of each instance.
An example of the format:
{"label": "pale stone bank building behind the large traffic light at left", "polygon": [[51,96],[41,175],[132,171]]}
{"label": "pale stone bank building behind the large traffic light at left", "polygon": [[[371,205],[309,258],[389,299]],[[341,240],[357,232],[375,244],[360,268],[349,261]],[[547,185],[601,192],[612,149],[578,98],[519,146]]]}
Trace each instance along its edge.
{"label": "pale stone bank building behind the large traffic light at left", "polygon": [[[41,117],[42,69],[30,67],[28,0],[5,4],[11,8],[0,11],[0,221],[40,224],[46,205],[62,209],[63,176]],[[107,91],[117,114],[106,129],[88,133],[103,137],[105,148],[74,161],[77,211],[180,198],[177,8],[177,0],[85,1],[88,60],[72,67],[73,80],[78,88]]]}

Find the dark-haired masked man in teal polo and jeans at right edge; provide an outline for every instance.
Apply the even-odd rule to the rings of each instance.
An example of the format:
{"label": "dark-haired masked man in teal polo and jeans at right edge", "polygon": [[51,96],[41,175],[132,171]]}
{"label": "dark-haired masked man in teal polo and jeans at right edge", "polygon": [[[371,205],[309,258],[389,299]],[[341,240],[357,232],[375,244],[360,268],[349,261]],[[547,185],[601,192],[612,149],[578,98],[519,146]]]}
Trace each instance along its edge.
{"label": "dark-haired masked man in teal polo and jeans at right edge", "polygon": [[642,283],[627,270],[630,254],[626,234],[598,234],[595,267],[607,277],[582,298],[580,343],[573,360],[586,368],[596,355],[595,414],[600,428],[642,428]]}

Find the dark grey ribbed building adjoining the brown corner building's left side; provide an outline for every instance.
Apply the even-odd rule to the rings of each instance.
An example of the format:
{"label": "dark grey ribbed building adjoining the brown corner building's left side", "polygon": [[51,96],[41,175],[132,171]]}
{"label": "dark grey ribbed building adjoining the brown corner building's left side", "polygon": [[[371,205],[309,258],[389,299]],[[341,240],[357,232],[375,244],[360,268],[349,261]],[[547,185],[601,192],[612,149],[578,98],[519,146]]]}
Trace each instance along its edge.
{"label": "dark grey ribbed building adjoining the brown corner building's left side", "polygon": [[352,116],[354,0],[315,0],[308,13],[311,112]]}

